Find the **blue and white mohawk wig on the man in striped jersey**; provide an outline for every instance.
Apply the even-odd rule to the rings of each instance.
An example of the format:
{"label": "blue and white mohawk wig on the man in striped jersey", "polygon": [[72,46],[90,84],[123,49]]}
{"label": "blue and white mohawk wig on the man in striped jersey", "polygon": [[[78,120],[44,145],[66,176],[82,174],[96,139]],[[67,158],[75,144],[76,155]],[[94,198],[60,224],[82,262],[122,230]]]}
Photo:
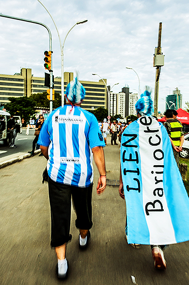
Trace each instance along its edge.
{"label": "blue and white mohawk wig on the man in striped jersey", "polygon": [[69,101],[76,104],[79,104],[85,98],[86,90],[78,81],[77,76],[73,81],[69,82],[65,95]]}

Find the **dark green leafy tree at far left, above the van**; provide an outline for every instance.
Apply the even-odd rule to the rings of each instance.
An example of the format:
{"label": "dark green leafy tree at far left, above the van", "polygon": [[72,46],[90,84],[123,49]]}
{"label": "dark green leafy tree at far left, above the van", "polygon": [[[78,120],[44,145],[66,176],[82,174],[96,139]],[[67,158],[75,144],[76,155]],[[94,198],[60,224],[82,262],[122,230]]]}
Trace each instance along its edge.
{"label": "dark green leafy tree at far left, above the van", "polygon": [[35,102],[28,97],[9,97],[10,103],[4,105],[4,108],[12,115],[18,115],[25,120],[25,124],[29,123],[30,117],[35,114]]}

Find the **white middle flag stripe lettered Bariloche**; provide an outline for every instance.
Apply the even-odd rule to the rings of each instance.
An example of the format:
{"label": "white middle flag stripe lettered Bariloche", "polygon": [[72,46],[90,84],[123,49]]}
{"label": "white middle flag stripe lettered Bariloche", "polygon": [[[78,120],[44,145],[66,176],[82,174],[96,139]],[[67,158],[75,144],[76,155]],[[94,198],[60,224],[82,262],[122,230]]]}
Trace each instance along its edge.
{"label": "white middle flag stripe lettered Bariloche", "polygon": [[[152,124],[149,126],[150,130],[157,130],[158,123],[153,120]],[[163,182],[155,182],[163,180],[163,168],[161,166],[164,165],[164,159],[160,159],[163,157],[162,154],[162,133],[159,129],[156,133],[148,133],[148,139],[144,136],[144,130],[147,130],[147,127],[139,123],[139,153],[141,158],[141,176],[142,176],[142,185],[145,185],[145,188],[142,188],[143,193],[143,210],[146,217],[146,222],[148,225],[149,233],[150,233],[150,244],[151,245],[166,245],[169,244],[170,241],[172,243],[176,243],[174,229],[172,226],[172,221],[169,213],[169,209],[167,206],[167,201],[165,194],[162,197],[158,196],[158,190],[154,190],[157,188],[163,189]],[[153,144],[159,141],[158,135],[161,139],[160,144],[158,146],[153,146],[149,143],[149,139]],[[145,137],[145,139],[144,139]],[[150,138],[151,137],[151,138]],[[148,144],[146,146],[146,144]],[[159,150],[159,151],[158,151]],[[156,159],[158,158],[158,159]],[[153,167],[152,166],[153,162]],[[156,166],[156,167],[154,167]],[[156,177],[156,178],[155,178]],[[156,180],[155,180],[156,179]],[[159,190],[160,195],[162,194],[162,190]],[[148,203],[152,203],[148,205],[148,209],[161,209],[159,202],[156,202],[153,206],[154,201],[160,201],[163,205],[162,211],[149,211],[149,215],[146,213],[146,205]]]}

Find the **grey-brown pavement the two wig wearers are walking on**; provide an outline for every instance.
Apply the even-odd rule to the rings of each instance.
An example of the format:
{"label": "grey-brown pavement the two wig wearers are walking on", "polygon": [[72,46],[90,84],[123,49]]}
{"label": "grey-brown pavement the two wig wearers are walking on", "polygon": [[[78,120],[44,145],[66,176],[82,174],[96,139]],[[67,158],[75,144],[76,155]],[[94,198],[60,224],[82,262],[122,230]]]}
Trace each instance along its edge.
{"label": "grey-brown pavement the two wig wearers are walking on", "polygon": [[[119,146],[104,148],[107,178],[119,179]],[[50,208],[47,184],[41,184],[46,159],[35,155],[0,169],[0,284],[1,285],[189,285],[189,242],[165,251],[167,269],[154,269],[150,246],[135,249],[125,240],[125,203],[118,186],[95,188],[93,227],[86,251],[78,247],[75,213],[71,212],[72,241],[67,247],[69,278],[55,277],[56,256],[50,247]]]}

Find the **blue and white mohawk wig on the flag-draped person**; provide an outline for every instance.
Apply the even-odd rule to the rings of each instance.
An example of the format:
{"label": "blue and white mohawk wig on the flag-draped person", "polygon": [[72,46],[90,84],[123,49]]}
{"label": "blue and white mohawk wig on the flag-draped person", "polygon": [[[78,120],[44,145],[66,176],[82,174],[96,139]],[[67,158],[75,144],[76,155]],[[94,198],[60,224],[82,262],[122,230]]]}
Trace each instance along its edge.
{"label": "blue and white mohawk wig on the flag-draped person", "polygon": [[140,95],[140,99],[138,99],[137,103],[135,104],[135,108],[141,115],[152,115],[154,108],[150,87],[146,86],[146,90]]}

